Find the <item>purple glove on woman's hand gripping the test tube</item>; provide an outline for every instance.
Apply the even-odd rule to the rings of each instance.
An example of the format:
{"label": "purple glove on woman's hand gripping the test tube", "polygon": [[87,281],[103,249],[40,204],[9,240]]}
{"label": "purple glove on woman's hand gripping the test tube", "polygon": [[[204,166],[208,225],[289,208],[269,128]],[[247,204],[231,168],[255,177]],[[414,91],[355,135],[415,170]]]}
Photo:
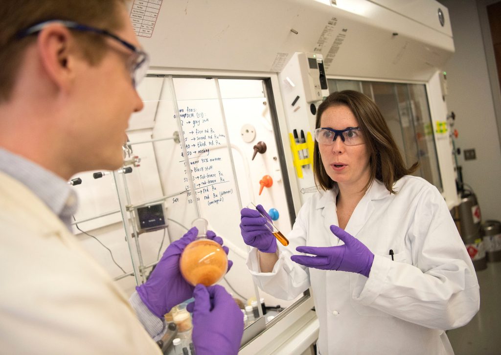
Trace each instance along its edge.
{"label": "purple glove on woman's hand gripping the test tube", "polygon": [[262,205],[258,205],[258,211],[250,208],[243,208],[240,211],[240,233],[245,244],[258,248],[264,253],[274,253],[277,251],[277,239],[266,227],[266,223],[272,220]]}

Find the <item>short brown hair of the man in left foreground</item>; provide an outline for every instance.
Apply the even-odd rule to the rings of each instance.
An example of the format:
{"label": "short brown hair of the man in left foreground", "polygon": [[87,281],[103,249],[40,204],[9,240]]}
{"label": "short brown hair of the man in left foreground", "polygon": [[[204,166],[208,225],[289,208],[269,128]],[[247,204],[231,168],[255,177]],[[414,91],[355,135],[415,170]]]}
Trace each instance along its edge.
{"label": "short brown hair of the man in left foreground", "polygon": [[[113,32],[124,24],[118,7],[125,0],[2,0],[0,6],[0,102],[9,100],[23,55],[36,36],[23,39],[16,35],[30,26],[47,20],[69,20]],[[99,63],[105,53],[102,36],[92,33],[73,34],[91,65]]]}

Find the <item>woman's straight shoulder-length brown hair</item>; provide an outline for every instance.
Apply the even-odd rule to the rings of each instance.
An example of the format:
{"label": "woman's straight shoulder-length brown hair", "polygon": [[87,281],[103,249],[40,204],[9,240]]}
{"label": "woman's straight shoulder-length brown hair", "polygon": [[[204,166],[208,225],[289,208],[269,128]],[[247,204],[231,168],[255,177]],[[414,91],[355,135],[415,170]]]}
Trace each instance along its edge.
{"label": "woman's straight shoulder-length brown hair", "polygon": [[[393,184],[402,176],[416,171],[419,163],[414,163],[408,169],[405,167],[402,155],[381,111],[366,95],[353,90],[330,94],[318,107],[315,128],[320,128],[322,114],[332,106],[347,106],[356,117],[358,127],[362,129],[370,165],[370,177],[364,190],[369,188],[374,179],[378,179],[390,193],[395,193]],[[315,141],[313,161],[315,184],[323,190],[330,190],[336,182],[325,171],[317,141]]]}

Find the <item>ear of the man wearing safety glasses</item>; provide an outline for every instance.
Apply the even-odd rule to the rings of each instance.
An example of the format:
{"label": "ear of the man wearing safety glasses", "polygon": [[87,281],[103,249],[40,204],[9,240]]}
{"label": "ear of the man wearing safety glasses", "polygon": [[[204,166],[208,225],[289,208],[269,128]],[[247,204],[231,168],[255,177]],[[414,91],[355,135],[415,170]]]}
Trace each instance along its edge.
{"label": "ear of the man wearing safety glasses", "polygon": [[44,28],[37,49],[45,75],[61,90],[69,90],[75,77],[76,43],[70,30],[60,24]]}

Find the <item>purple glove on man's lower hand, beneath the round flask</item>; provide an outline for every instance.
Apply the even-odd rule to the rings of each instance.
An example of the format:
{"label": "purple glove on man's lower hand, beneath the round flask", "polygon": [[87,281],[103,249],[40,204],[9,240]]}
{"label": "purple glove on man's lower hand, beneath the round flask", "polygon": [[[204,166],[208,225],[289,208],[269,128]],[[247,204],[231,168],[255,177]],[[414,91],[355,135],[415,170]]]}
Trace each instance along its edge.
{"label": "purple glove on man's lower hand, beneath the round flask", "polygon": [[195,301],[186,309],[193,312],[191,338],[197,354],[236,355],[243,334],[243,314],[235,300],[220,285],[198,284]]}

